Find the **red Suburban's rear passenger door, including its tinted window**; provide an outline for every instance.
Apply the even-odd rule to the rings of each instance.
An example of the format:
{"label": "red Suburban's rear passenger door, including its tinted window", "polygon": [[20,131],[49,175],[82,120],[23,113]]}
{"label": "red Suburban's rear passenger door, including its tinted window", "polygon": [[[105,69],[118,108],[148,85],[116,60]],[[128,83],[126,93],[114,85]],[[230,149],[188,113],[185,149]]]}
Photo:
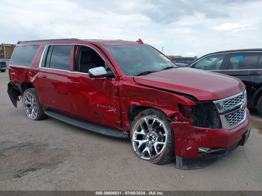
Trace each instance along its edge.
{"label": "red Suburban's rear passenger door, including its tinted window", "polygon": [[38,73],[42,107],[71,114],[67,76],[72,45],[47,45]]}

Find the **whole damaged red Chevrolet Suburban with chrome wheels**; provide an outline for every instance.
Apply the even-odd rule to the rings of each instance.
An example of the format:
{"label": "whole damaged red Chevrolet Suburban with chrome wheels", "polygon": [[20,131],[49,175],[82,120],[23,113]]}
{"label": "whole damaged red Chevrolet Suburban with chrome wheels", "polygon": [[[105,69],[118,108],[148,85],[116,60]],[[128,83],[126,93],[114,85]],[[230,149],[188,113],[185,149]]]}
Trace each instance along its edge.
{"label": "whole damaged red Chevrolet Suburban with chrome wheels", "polygon": [[[7,92],[30,120],[47,116],[117,138],[151,163],[201,168],[249,136],[245,85],[178,68],[142,40],[37,40],[16,45]],[[186,80],[184,80],[186,78]]]}

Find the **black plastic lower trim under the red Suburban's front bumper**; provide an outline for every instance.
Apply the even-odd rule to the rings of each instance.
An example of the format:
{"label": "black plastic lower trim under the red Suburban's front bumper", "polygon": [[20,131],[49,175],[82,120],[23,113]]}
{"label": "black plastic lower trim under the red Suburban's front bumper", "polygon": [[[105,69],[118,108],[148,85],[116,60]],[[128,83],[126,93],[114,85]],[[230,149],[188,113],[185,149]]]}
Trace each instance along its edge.
{"label": "black plastic lower trim under the red Suburban's front bumper", "polygon": [[212,148],[208,152],[198,153],[201,157],[199,159],[175,156],[177,169],[197,169],[203,168],[214,163],[217,159],[224,157],[232,152],[238,146],[244,146],[248,140],[251,128],[245,133],[244,137],[237,143],[229,146],[228,148]]}

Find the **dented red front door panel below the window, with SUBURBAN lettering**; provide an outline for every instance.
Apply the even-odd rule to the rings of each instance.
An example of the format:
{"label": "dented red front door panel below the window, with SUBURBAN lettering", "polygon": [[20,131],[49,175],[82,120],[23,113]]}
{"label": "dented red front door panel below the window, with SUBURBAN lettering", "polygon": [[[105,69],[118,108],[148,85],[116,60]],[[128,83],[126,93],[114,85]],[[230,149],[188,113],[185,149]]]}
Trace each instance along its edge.
{"label": "dented red front door panel below the window, with SUBURBAN lettering", "polygon": [[89,78],[87,74],[70,72],[68,85],[72,115],[120,130],[121,111],[116,82],[112,79]]}

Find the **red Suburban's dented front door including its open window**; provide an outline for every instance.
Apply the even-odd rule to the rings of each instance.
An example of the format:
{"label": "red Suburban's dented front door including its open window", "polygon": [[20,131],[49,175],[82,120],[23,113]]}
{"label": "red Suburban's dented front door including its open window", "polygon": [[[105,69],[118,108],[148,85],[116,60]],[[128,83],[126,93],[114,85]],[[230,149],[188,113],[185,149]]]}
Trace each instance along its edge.
{"label": "red Suburban's dented front door including its open window", "polygon": [[[113,67],[95,46],[74,46],[73,69],[68,74],[71,112],[76,118],[120,130],[118,78]],[[104,60],[106,59],[106,60]],[[104,67],[114,78],[90,78],[88,71]]]}

